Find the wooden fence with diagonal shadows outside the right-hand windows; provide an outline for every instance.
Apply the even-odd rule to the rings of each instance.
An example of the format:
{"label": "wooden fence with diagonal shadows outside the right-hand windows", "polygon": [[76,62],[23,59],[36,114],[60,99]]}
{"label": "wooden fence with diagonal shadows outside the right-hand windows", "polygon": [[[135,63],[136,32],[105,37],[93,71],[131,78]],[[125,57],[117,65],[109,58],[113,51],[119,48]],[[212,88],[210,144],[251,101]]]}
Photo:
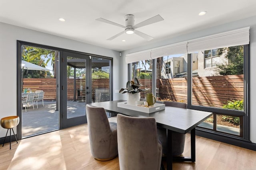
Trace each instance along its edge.
{"label": "wooden fence with diagonal shadows outside the right-hand windows", "polygon": [[[187,78],[158,79],[160,99],[187,102]],[[244,99],[244,75],[192,78],[192,104],[222,107],[227,101]]]}

